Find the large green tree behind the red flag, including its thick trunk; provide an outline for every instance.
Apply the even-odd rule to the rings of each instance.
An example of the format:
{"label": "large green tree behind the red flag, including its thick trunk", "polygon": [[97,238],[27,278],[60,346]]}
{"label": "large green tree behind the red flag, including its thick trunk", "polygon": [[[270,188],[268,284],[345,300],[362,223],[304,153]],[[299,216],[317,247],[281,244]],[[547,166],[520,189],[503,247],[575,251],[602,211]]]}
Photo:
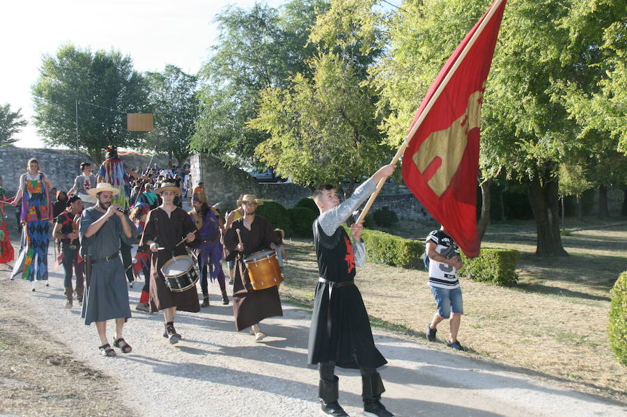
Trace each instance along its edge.
{"label": "large green tree behind the red flag, including its thick trunk", "polygon": [[[392,109],[383,125],[390,141],[403,136],[428,83],[489,3],[403,3],[408,13],[392,21],[392,47],[377,78],[385,97],[381,105]],[[570,19],[590,3],[594,6],[584,19]],[[555,87],[576,82],[582,91],[598,91],[603,33],[621,22],[607,12],[610,3],[510,0],[505,9],[483,96],[481,168],[487,177],[504,167],[509,178],[527,184],[537,255],[566,255],[559,235],[557,173],[561,162],[586,146],[582,127],[572,120]],[[578,30],[584,27],[589,30]]]}

